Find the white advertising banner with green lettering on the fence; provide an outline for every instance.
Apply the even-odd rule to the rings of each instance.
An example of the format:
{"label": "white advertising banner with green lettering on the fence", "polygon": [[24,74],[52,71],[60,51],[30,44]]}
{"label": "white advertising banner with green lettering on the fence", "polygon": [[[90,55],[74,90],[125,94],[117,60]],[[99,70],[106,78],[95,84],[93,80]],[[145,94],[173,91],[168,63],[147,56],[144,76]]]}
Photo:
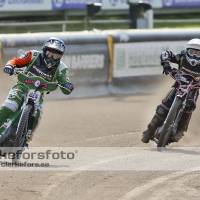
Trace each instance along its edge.
{"label": "white advertising banner with green lettering on the fence", "polygon": [[130,77],[161,74],[160,54],[164,50],[180,53],[184,41],[134,42],[114,44],[113,77]]}

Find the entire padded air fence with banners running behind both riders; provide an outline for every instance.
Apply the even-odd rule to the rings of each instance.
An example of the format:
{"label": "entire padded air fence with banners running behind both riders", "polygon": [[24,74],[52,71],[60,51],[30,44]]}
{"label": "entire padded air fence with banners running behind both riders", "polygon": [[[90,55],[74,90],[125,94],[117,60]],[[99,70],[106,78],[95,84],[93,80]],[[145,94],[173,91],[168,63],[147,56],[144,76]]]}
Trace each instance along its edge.
{"label": "entire padded air fence with banners running behind both riders", "polygon": [[[188,40],[200,36],[200,29],[2,34],[1,68],[30,49],[41,51],[44,41],[52,36],[66,43],[62,61],[75,85],[68,97],[59,90],[48,95],[62,99],[148,92],[147,84],[156,83],[162,74],[161,52],[170,49],[179,53]],[[12,84],[15,82],[12,79]]]}

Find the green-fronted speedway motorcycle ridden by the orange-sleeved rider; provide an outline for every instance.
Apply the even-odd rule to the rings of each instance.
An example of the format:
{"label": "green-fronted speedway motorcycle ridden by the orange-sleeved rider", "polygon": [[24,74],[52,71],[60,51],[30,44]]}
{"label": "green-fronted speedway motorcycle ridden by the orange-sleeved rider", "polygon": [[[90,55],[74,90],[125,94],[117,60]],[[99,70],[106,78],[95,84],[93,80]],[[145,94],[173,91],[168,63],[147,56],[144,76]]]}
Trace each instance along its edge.
{"label": "green-fronted speedway motorcycle ridden by the orange-sleeved rider", "polygon": [[20,162],[22,152],[32,140],[33,126],[43,93],[49,94],[58,86],[64,87],[57,82],[47,82],[39,76],[27,76],[19,68],[14,69],[14,75],[17,75],[18,83],[27,88],[27,93],[24,94],[23,105],[0,127],[0,154],[4,157],[12,154],[12,163],[16,164]]}

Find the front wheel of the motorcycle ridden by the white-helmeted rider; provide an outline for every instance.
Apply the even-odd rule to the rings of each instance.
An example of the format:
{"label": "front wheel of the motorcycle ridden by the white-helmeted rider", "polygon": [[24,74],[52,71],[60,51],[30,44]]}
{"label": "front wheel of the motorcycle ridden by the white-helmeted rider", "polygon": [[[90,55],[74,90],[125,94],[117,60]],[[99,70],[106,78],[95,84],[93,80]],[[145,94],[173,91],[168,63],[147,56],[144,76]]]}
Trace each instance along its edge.
{"label": "front wheel of the motorcycle ridden by the white-helmeted rider", "polygon": [[157,147],[165,147],[166,144],[168,143],[169,137],[171,135],[172,125],[173,125],[173,122],[175,121],[175,118],[177,116],[177,113],[181,104],[182,104],[182,100],[178,98],[172,104],[172,107],[169,110],[169,113],[167,115],[167,119],[165,120],[165,123],[163,125]]}

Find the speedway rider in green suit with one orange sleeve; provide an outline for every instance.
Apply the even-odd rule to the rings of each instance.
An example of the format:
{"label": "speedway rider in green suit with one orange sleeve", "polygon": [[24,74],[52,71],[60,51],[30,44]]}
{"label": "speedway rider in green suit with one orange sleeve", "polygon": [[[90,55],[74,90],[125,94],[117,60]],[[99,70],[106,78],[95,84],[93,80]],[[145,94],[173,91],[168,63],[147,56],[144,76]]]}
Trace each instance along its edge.
{"label": "speedway rider in green suit with one orange sleeve", "polygon": [[[26,66],[25,74],[28,76],[40,76],[49,82],[57,81],[64,87],[61,88],[62,92],[69,95],[74,89],[74,86],[68,78],[67,66],[61,62],[65,48],[65,43],[62,40],[50,37],[44,42],[42,52],[30,50],[19,58],[9,60],[4,68],[4,72],[13,75],[15,67],[21,68]],[[25,92],[25,87],[20,83],[12,87],[7,99],[0,107],[0,127],[6,119],[22,106]],[[43,113],[43,98],[41,99],[38,111],[34,130]]]}

